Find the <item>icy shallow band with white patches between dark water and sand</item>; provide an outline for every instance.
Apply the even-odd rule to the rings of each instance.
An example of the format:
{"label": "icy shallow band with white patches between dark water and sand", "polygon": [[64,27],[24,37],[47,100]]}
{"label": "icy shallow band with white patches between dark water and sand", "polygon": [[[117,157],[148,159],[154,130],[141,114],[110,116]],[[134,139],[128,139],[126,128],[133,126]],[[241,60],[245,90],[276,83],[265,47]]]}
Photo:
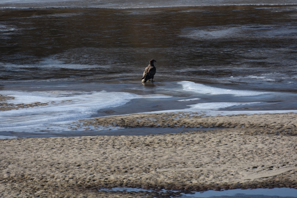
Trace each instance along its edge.
{"label": "icy shallow band with white patches between dark water and sand", "polygon": [[[19,90],[20,87],[14,86],[0,91],[2,95],[15,98],[9,100],[10,104],[46,104],[2,111],[0,135],[56,137],[171,132],[166,128],[135,129],[132,132],[131,129],[119,130],[118,127],[75,127],[80,125],[81,119],[131,113],[189,111],[209,116],[297,113],[296,93],[234,90],[190,81],[147,84],[153,86],[144,86],[141,83],[122,83],[116,86],[106,83],[54,84],[55,86],[48,84],[37,87],[28,83],[21,87],[22,91]],[[72,130],[74,128],[75,131]]]}

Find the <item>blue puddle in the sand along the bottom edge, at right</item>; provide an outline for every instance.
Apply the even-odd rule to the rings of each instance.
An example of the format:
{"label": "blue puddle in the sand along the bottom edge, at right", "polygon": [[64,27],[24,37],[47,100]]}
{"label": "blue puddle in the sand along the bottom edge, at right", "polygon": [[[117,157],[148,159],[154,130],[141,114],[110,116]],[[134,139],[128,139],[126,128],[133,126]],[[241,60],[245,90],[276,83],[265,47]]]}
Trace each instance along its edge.
{"label": "blue puddle in the sand along the bottom edge, at right", "polygon": [[[167,198],[167,197],[180,197],[180,198],[296,198],[297,189],[290,188],[274,188],[274,189],[232,189],[223,191],[203,191],[203,192],[191,192],[183,193],[182,191],[170,191],[162,189],[161,191],[137,189],[137,188],[111,188],[111,189],[99,189],[98,191],[119,193],[135,192],[145,193],[146,195],[152,195],[154,198]],[[141,197],[141,195],[138,195]]]}

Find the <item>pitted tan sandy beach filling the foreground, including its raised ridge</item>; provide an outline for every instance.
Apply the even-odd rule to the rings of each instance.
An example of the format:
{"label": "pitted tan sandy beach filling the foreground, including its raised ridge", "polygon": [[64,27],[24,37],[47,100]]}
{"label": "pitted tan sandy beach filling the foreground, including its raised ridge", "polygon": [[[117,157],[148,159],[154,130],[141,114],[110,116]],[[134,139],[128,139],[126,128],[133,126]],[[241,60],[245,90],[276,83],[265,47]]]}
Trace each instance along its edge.
{"label": "pitted tan sandy beach filling the foreground, including its raised ridge", "polygon": [[161,122],[168,127],[170,118],[170,127],[177,127],[177,122],[179,126],[229,128],[146,136],[0,140],[0,196],[169,197],[180,193],[98,191],[112,187],[296,189],[296,117],[292,113],[217,117],[135,114],[81,123],[122,126],[120,123],[131,119],[144,126],[150,119],[154,120],[150,127]]}

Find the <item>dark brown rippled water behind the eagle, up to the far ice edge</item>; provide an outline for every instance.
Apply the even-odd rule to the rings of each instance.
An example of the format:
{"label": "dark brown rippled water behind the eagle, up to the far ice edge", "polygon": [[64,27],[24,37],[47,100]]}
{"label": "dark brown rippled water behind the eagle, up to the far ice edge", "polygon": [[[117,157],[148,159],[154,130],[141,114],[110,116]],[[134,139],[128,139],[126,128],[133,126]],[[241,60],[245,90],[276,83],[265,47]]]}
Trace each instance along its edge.
{"label": "dark brown rippled water behind the eagle, up to the far ice edge", "polygon": [[296,92],[297,6],[2,9],[0,84],[189,80]]}

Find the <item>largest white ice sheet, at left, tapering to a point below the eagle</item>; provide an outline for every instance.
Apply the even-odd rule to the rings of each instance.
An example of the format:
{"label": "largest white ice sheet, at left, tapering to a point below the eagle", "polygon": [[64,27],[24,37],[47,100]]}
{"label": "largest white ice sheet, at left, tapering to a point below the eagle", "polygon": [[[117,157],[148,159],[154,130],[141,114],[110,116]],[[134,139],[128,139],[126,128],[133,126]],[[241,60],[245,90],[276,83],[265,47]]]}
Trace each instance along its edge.
{"label": "largest white ice sheet, at left, tapering to a point below the eagle", "polygon": [[0,112],[0,131],[15,132],[67,131],[70,123],[87,118],[99,109],[118,107],[136,98],[169,97],[106,91],[0,91],[0,94],[15,97],[8,103],[47,103],[45,106]]}

